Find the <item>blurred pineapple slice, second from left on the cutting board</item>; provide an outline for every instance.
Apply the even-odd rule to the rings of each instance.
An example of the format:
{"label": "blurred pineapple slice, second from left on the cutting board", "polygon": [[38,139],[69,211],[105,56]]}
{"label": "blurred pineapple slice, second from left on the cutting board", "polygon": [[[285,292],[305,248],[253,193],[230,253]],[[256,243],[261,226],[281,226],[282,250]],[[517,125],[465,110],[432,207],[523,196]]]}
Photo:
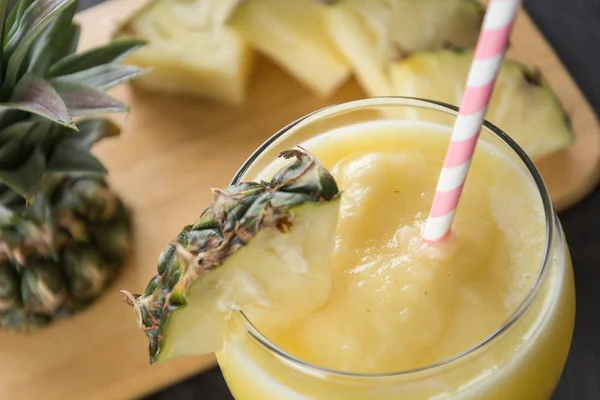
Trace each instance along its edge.
{"label": "blurred pineapple slice, second from left on the cutting board", "polygon": [[267,57],[320,96],[351,75],[329,38],[326,6],[315,0],[246,0],[230,25]]}

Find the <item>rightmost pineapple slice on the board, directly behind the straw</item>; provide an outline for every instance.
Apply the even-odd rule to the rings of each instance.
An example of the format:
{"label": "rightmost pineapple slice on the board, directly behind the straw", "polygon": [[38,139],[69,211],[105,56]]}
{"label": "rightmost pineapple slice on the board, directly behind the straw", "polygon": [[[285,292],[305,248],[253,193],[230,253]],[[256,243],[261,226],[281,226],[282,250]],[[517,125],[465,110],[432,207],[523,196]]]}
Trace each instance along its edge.
{"label": "rightmost pineapple slice on the board, directly behind the straw", "polygon": [[[416,53],[391,67],[394,94],[458,106],[472,59],[471,50]],[[441,118],[439,122],[452,123],[450,116]],[[565,111],[541,74],[512,60],[500,69],[486,119],[533,159],[567,147],[574,138]]]}

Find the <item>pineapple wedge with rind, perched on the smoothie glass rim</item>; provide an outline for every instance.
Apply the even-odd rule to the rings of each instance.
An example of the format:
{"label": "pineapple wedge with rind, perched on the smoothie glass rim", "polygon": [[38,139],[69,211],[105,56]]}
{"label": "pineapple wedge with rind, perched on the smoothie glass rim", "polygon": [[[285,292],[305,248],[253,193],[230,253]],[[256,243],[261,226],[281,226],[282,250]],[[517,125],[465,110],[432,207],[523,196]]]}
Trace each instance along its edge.
{"label": "pineapple wedge with rind, perched on the smoothie glass rim", "polygon": [[272,330],[326,302],[338,188],[312,155],[282,155],[296,160],[270,182],[215,190],[200,219],[163,252],[144,294],[124,292],[151,362],[220,350],[235,310]]}

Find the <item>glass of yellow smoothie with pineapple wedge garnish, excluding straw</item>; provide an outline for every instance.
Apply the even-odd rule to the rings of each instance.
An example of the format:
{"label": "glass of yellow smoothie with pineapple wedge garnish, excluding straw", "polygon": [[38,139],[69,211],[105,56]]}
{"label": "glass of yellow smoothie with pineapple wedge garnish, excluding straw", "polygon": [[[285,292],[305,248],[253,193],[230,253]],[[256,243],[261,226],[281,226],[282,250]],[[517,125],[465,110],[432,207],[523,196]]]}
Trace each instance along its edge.
{"label": "glass of yellow smoothie with pineapple wedge garnish, excluding straw", "polygon": [[532,162],[486,125],[452,235],[421,240],[453,113],[358,100],[273,135],[122,291],[150,362],[215,353],[237,400],[549,399],[574,284]]}

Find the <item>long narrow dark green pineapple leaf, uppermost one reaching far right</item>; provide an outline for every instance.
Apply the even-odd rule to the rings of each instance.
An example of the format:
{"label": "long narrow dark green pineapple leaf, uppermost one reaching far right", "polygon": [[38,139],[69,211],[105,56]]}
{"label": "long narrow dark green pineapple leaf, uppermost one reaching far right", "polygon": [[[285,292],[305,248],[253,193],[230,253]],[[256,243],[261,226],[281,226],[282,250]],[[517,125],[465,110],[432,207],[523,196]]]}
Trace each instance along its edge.
{"label": "long narrow dark green pineapple leaf, uppermost one reaching far right", "polygon": [[116,63],[145,43],[141,39],[123,39],[83,53],[71,54],[54,64],[50,68],[48,76],[69,75],[98,65]]}

